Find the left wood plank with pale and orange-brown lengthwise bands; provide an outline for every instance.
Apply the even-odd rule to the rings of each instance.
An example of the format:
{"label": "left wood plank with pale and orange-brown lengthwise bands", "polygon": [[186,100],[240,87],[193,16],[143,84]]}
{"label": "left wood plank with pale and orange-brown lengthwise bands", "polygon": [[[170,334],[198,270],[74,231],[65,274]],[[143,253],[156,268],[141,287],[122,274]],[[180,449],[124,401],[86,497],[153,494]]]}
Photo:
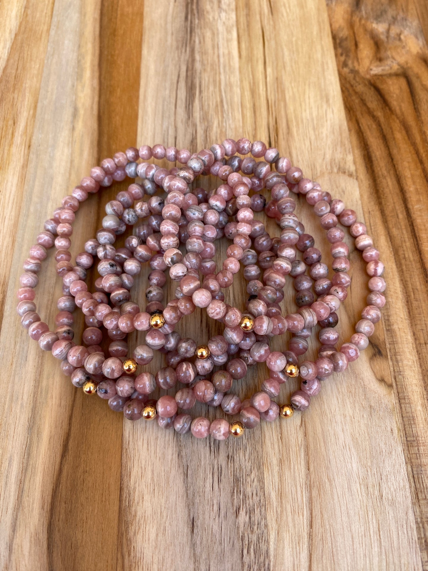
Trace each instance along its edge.
{"label": "left wood plank with pale and orange-brown lengthwise bands", "polygon": [[[9,136],[19,152],[11,155],[13,162],[6,163],[10,175],[3,180],[9,186],[3,187],[1,196],[10,200],[9,189],[14,185],[16,192],[12,196],[22,203],[21,217],[11,217],[2,231],[5,236],[17,233],[14,255],[7,256],[7,260],[17,260],[18,268],[43,220],[60,199],[70,194],[72,186],[93,164],[122,148],[124,139],[136,139],[140,50],[135,50],[132,42],[138,43],[141,37],[142,17],[134,16],[131,2],[104,2],[101,10],[96,1],[57,1],[51,20],[46,21],[44,44],[42,38],[39,46],[31,44],[35,52],[32,57],[37,59],[32,62],[30,53],[29,61],[18,65],[26,53],[28,38],[37,38],[43,31],[42,15],[45,11],[39,6],[27,3],[2,82],[2,125],[6,134],[1,148],[6,148]],[[106,38],[101,43],[100,35]],[[42,45],[45,51],[47,46],[46,58],[40,54]],[[134,66],[137,73],[129,74],[127,65]],[[8,86],[9,76],[23,93],[27,89],[26,106]],[[99,85],[112,83],[112,77],[127,89],[120,100],[114,89],[103,89],[99,95]],[[34,84],[33,91],[29,80]],[[114,115],[116,123],[111,121]],[[17,160],[25,166],[25,159],[27,171],[17,169]],[[16,208],[18,214],[19,206]],[[81,238],[74,244],[74,255],[82,251],[88,231],[95,235],[101,208],[100,201],[92,197],[79,212],[75,236]],[[39,293],[37,298],[41,315],[49,316],[48,323],[55,315],[51,300],[60,295],[53,262],[50,259],[49,267],[42,272],[38,288],[45,295]],[[7,271],[2,279],[6,275]],[[7,289],[6,307],[15,306],[18,275],[15,272],[9,287],[2,289],[2,294]],[[82,325],[80,318],[76,328],[79,334]],[[106,415],[105,403],[99,399],[88,401],[75,391],[51,355],[29,343],[14,309],[3,320],[1,350],[3,359],[14,360],[14,383],[25,395],[25,400],[19,397],[17,403],[17,395],[7,389],[9,379],[2,379],[2,390],[7,394],[5,406],[10,411],[1,427],[1,513],[5,530],[0,534],[2,568],[112,568],[119,521],[122,419]],[[95,541],[95,537],[103,540]],[[92,538],[90,542],[88,538]]]}

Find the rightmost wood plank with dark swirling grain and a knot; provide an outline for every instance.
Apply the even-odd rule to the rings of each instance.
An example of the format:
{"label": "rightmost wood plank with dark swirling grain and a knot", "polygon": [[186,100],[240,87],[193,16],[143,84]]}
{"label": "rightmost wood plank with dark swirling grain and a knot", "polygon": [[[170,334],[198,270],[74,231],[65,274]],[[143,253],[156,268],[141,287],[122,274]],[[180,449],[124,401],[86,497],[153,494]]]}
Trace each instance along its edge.
{"label": "rightmost wood plank with dark swirling grain and a knot", "polygon": [[428,49],[411,3],[332,1],[328,10],[365,218],[394,260],[387,351],[428,568]]}

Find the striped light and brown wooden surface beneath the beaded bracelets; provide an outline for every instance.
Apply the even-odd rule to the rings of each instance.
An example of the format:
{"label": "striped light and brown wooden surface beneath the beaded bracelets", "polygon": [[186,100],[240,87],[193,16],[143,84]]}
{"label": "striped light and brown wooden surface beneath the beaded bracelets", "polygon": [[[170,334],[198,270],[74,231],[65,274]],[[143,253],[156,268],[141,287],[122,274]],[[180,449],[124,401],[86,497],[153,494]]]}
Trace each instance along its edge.
{"label": "striped light and brown wooden surface beneath the beaded bracelets", "polygon": [[[1,569],[428,569],[426,3],[5,0],[0,22]],[[93,164],[225,136],[277,146],[364,218],[388,303],[373,344],[304,415],[217,443],[123,423],[77,391],[19,325],[15,290]],[[117,191],[81,208],[74,254]],[[350,259],[344,339],[366,295]],[[36,298],[50,324],[59,295],[50,259]],[[243,304],[243,280],[227,296]],[[216,331],[202,328],[195,313],[179,331]],[[243,396],[263,380],[253,371]]]}

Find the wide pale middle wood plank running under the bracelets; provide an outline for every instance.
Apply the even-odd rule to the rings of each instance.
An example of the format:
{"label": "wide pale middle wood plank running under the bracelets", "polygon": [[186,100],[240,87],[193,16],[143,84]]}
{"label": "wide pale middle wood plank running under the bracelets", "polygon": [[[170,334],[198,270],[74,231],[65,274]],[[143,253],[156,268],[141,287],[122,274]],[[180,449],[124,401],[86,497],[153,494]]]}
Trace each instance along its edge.
{"label": "wide pale middle wood plank running under the bracelets", "polygon": [[[362,215],[324,4],[305,2],[298,16],[291,2],[241,2],[236,11],[221,2],[193,8],[191,17],[180,3],[146,10],[143,54],[151,45],[160,46],[155,22],[165,22],[172,33],[145,67],[140,142],[178,142],[195,150],[195,142],[240,136],[244,125],[244,135],[291,152],[309,175]],[[220,17],[217,29],[209,25],[211,10],[228,13],[226,19]],[[224,20],[232,31],[220,25]],[[293,22],[293,34],[283,40],[284,22]],[[217,57],[207,66],[209,53]],[[165,70],[161,77],[159,69]],[[166,85],[164,77],[169,78]],[[230,84],[228,77],[233,78]],[[162,101],[175,99],[175,106],[161,103],[160,93]],[[224,101],[224,94],[236,103]],[[211,119],[205,128],[204,117]],[[321,240],[320,231],[313,224],[308,227]],[[341,309],[346,333],[361,311],[366,288],[357,272],[362,267],[358,256],[353,262],[353,299]],[[203,320],[208,339],[212,329],[207,325]],[[183,329],[183,334],[192,332],[186,324]],[[260,367],[252,385],[263,375]],[[240,392],[247,391],[245,384]],[[420,568],[393,407],[380,331],[375,348],[358,367],[325,385],[310,415],[263,425],[245,442],[219,446],[159,434],[156,427],[141,423],[125,424],[121,568],[280,569],[284,563],[296,569]],[[142,445],[136,447],[136,442]],[[147,487],[149,497],[144,496]],[[143,509],[135,504],[136,495]],[[397,497],[399,512],[394,509]]]}

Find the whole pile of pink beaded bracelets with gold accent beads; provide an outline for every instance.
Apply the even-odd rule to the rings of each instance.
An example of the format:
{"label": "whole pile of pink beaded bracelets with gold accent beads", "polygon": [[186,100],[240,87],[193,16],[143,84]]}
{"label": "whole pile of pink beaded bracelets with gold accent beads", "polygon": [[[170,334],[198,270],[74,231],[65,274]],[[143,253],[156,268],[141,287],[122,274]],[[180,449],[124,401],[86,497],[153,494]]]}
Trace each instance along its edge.
{"label": "whole pile of pink beaded bracelets with gold accent beads", "polygon": [[[183,166],[167,170],[148,163],[151,158]],[[189,188],[198,175],[209,174],[220,178],[218,188],[211,192]],[[76,256],[73,266],[69,250],[72,223],[80,203],[100,187],[111,186],[114,180],[122,181],[127,176],[139,177],[142,182],[131,184],[107,203],[103,228],[85,243],[85,251]],[[269,202],[260,194],[263,189],[270,191]],[[313,206],[332,244],[331,280],[330,268],[321,262],[313,236],[305,234],[294,214],[296,203],[292,197],[296,194],[305,195]],[[281,228],[279,238],[271,238],[264,224],[254,218],[254,212],[261,211],[276,219]],[[144,221],[139,223],[140,219]],[[342,241],[344,230],[338,222],[349,228],[356,248],[362,251],[370,293],[356,332],[337,350],[336,312],[350,286],[349,249]],[[126,238],[124,247],[115,248],[116,236],[135,224],[135,235]],[[215,242],[223,236],[231,244],[227,259],[218,268],[213,260]],[[179,250],[180,244],[183,251]],[[57,304],[56,329],[50,331],[36,312],[34,297],[41,262],[53,246],[63,295]],[[302,252],[302,260],[297,259],[297,251]],[[99,259],[99,277],[91,293],[85,280],[95,256]],[[151,273],[147,306],[140,311],[131,300],[131,289],[134,276],[145,262],[150,264]],[[249,294],[245,308],[224,303],[221,291],[232,285],[241,265]],[[44,351],[51,351],[60,361],[60,368],[75,387],[83,388],[87,395],[98,393],[113,411],[123,411],[127,419],[157,417],[161,427],[173,427],[181,434],[190,431],[196,438],[211,435],[225,440],[255,428],[261,419],[271,422],[278,416],[286,418],[294,411],[304,411],[311,397],[320,392],[322,381],[334,372],[344,371],[368,347],[374,324],[381,319],[380,308],[385,305],[383,264],[372,238],[366,234],[366,226],[357,222],[356,212],[346,209],[342,200],[332,200],[318,183],[303,178],[300,168],[292,167],[276,148],[245,138],[226,139],[193,155],[188,150],[156,144],[139,150],[131,147],[112,159],[104,159],[45,222],[45,230],[30,248],[23,268],[17,292],[21,323]],[[177,288],[176,299],[164,305],[162,287],[167,270]],[[279,304],[288,274],[294,280],[298,311],[284,317]],[[84,313],[87,325],[82,335],[84,345],[73,341],[72,312],[76,307]],[[203,345],[194,339],[181,339],[175,325],[196,308],[223,323],[223,335],[213,336]],[[299,364],[298,357],[307,351],[308,338],[317,323],[322,327],[318,358]],[[111,340],[107,358],[99,345],[103,328]],[[145,331],[146,338],[131,356],[125,339],[135,329]],[[270,351],[270,339],[286,331],[292,333],[286,351]],[[153,359],[155,349],[164,353],[167,367],[153,375],[142,369]],[[243,379],[248,367],[262,361],[269,369],[269,378],[259,392],[241,402],[229,392],[233,380]],[[220,368],[213,372],[214,367]],[[292,393],[289,404],[278,405],[274,399],[280,385],[288,377],[297,376],[301,378],[300,390]],[[157,401],[150,398],[156,388],[169,390],[177,382],[183,388],[175,397],[164,395]],[[192,419],[188,411],[196,400],[221,407],[225,415],[239,416],[239,420],[229,423],[225,418],[212,422],[206,417]]]}

